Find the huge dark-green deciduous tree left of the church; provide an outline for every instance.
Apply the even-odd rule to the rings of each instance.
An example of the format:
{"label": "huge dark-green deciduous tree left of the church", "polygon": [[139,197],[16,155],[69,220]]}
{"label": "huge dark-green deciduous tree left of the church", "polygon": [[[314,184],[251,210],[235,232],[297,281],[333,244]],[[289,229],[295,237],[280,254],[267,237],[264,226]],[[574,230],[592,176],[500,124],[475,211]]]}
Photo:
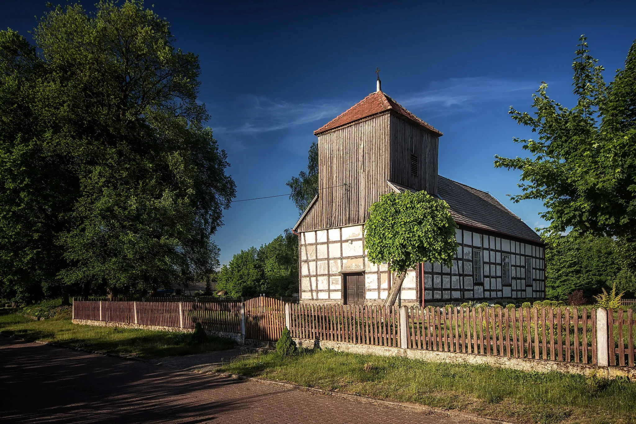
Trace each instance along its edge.
{"label": "huge dark-green deciduous tree left of the church", "polygon": [[[15,35],[3,37],[18,43]],[[18,224],[11,235],[2,222],[0,251],[15,250],[11,237],[31,240],[34,252],[52,251],[41,253],[39,264],[62,287],[113,294],[188,282],[218,266],[211,236],[235,184],[225,173],[225,152],[204,126],[197,56],[174,48],[169,23],[134,0],[100,1],[95,13],[78,4],[57,7],[34,40],[39,56],[28,46],[0,57],[17,75],[3,72],[13,79],[0,85],[0,107],[17,90],[11,81],[29,81],[22,91],[31,96],[18,97],[13,115],[0,122],[0,133],[13,129],[0,136],[0,157],[23,155],[0,163],[4,186],[13,187],[0,219]],[[21,123],[25,114],[31,119]],[[22,168],[34,177],[15,175]],[[41,216],[15,213],[28,196]],[[24,268],[15,255],[6,263],[5,282],[15,275],[11,266]]]}

